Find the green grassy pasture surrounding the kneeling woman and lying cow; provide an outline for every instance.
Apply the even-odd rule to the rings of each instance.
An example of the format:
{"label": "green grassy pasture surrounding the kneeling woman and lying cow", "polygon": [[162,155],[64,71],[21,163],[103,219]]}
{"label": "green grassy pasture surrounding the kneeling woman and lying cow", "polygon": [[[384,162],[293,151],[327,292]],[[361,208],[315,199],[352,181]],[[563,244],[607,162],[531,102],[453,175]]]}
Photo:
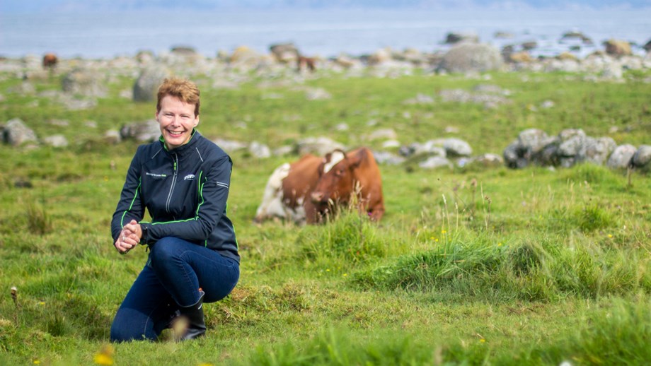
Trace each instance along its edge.
{"label": "green grassy pasture surrounding the kneeling woman and lying cow", "polygon": [[[402,143],[462,138],[497,153],[519,131],[581,128],[617,143],[651,143],[648,72],[625,83],[561,73],[490,78],[324,76],[265,88],[202,88],[199,130],[265,143],[328,136],[379,148],[371,131]],[[117,307],[144,266],[144,247],[120,256],[110,238],[137,143],[108,129],[154,116],[154,103],[108,98],[68,111],[46,97],[58,76],[0,78],[0,122],[21,118],[67,148],[0,146],[1,365],[643,365],[651,360],[651,184],[640,172],[594,165],[421,170],[381,165],[386,216],[345,212],[326,225],[252,222],[270,172],[296,155],[232,154],[229,216],[241,280],[204,307],[209,331],[191,342],[110,344]],[[268,83],[267,83],[268,84]],[[442,102],[441,90],[498,85],[497,108]],[[332,98],[306,100],[306,88]],[[275,98],[265,96],[273,93]],[[407,105],[417,94],[432,104]],[[280,98],[279,98],[280,96]],[[553,107],[543,108],[551,100]],[[65,120],[67,126],[52,124]],[[95,124],[88,124],[93,121]],[[369,123],[371,122],[372,123]],[[347,131],[335,129],[338,124]],[[453,126],[458,132],[449,133]],[[30,187],[17,182],[29,182]],[[12,288],[16,293],[12,295]],[[164,334],[168,336],[168,334]]]}

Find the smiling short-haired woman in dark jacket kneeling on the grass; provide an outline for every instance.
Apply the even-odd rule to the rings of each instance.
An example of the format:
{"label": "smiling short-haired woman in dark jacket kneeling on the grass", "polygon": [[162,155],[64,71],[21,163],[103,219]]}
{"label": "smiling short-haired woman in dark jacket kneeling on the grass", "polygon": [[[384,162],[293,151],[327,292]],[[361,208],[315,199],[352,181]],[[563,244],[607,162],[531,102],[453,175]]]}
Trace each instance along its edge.
{"label": "smiling short-haired woman in dark jacket kneeling on the grass", "polygon": [[[238,281],[240,256],[226,216],[233,163],[195,130],[199,107],[197,85],[163,81],[161,138],[139,146],[129,166],[111,223],[114,245],[120,254],[137,244],[150,251],[117,310],[111,341],[156,340],[171,326],[180,340],[202,336],[203,303],[226,297]],[[145,208],[151,222],[143,221]]]}

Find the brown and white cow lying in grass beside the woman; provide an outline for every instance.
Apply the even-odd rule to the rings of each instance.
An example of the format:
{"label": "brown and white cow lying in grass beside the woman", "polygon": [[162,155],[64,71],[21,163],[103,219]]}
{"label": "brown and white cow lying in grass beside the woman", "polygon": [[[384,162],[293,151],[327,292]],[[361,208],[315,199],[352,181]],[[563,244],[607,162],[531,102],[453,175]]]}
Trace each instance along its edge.
{"label": "brown and white cow lying in grass beside the woman", "polygon": [[351,203],[371,220],[379,221],[384,215],[380,170],[368,148],[348,153],[334,150],[325,158],[305,155],[281,165],[267,182],[255,221],[278,217],[319,223]]}

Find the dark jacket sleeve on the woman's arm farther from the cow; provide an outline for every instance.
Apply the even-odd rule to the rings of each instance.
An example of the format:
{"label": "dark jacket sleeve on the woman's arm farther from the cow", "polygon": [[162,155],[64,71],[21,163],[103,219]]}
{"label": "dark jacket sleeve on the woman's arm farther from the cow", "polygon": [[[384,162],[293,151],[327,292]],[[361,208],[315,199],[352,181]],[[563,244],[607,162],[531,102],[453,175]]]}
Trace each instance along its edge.
{"label": "dark jacket sleeve on the woman's arm farther from the cow", "polygon": [[115,208],[115,213],[113,213],[113,220],[111,220],[111,236],[113,236],[113,242],[120,235],[122,226],[131,220],[142,220],[144,216],[144,203],[140,191],[140,170],[142,165],[139,163],[138,158],[140,149],[138,148],[136,155],[131,160],[131,165],[129,165],[129,170],[127,170],[125,185],[122,187],[122,193],[120,193],[120,201],[117,202],[117,208]]}

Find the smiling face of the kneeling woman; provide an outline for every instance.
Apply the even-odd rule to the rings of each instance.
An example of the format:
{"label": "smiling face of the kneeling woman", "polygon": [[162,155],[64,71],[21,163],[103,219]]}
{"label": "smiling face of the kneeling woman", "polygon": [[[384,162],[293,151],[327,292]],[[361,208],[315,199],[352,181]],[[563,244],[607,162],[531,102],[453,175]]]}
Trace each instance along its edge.
{"label": "smiling face of the kneeling woman", "polygon": [[156,121],[161,127],[165,146],[172,150],[190,141],[192,129],[199,124],[199,116],[195,117],[195,105],[166,95],[161,100],[161,110],[156,112]]}

